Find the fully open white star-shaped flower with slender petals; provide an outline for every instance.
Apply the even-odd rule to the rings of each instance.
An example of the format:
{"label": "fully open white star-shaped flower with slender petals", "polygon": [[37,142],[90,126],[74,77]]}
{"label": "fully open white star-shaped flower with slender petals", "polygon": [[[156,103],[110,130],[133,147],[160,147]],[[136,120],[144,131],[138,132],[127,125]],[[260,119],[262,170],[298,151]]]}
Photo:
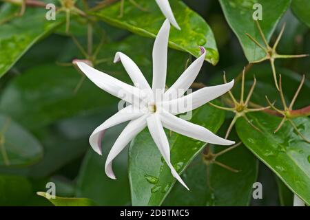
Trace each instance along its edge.
{"label": "fully open white star-shaped flower with slender petals", "polygon": [[[154,43],[152,88],[149,86],[147,80],[134,61],[121,52],[116,53],[114,63],[118,61],[123,63],[134,86],[123,83],[103,72],[99,72],[83,62],[76,62],[79,69],[81,69],[94,84],[113,96],[122,98],[130,103],[129,106],[121,109],[111,118],[103,122],[90,136],[90,145],[94,151],[101,154],[101,137],[105,129],[122,122],[130,121],[112,146],[105,162],[105,173],[112,179],[116,179],[112,170],[112,160],[138,133],[143,131],[146,126],[158,150],[171,169],[172,175],[178,179],[185,188],[187,188],[187,186],[170,162],[169,143],[163,127],[202,142],[221,145],[234,144],[232,141],[225,140],[211,133],[211,131],[205,129],[203,126],[176,117],[177,114],[192,111],[192,109],[196,109],[210,100],[225,94],[233,87],[234,80],[223,85],[205,87],[198,91],[194,91],[192,94],[183,96],[185,91],[187,91],[194,82],[205,60],[205,49],[200,47],[202,55],[185,70],[172,87],[165,91],[169,29],[170,24],[169,21],[166,20],[161,30],[159,30]],[[174,98],[172,98],[172,96],[174,96]],[[184,103],[187,104],[187,106],[185,108],[179,108],[183,106],[182,104]]]}

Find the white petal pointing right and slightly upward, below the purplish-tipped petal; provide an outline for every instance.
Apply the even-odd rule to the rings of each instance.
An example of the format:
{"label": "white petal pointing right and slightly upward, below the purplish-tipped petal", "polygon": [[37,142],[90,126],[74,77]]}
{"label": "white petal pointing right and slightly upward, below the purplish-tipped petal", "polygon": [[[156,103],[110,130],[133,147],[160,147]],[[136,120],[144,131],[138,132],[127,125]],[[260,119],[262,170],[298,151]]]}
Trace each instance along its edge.
{"label": "white petal pointing right and slightly upward, below the purplish-tipped petal", "polygon": [[234,86],[234,80],[222,85],[205,87],[192,94],[160,103],[166,111],[174,115],[192,111],[203,104],[222,96]]}

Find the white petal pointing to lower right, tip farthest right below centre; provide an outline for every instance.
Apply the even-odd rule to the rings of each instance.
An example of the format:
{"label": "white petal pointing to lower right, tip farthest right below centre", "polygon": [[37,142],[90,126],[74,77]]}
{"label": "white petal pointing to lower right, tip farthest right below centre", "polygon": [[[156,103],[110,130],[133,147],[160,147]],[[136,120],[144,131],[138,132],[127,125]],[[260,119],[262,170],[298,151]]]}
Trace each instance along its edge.
{"label": "white petal pointing to lower right, tip farthest right below centre", "polygon": [[235,142],[218,137],[218,135],[215,135],[203,126],[187,122],[167,112],[161,113],[161,122],[166,129],[175,131],[176,133],[180,133],[187,137],[192,137],[202,142],[220,145],[235,144]]}

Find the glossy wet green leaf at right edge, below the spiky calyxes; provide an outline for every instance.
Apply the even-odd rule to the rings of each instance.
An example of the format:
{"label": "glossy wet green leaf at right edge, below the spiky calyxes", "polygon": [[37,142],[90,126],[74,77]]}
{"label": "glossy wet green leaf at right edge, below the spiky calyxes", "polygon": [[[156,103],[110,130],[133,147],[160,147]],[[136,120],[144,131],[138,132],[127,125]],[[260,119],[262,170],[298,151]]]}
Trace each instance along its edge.
{"label": "glossy wet green leaf at right edge, below the spiky calyxes", "polygon": [[[261,132],[240,118],[236,129],[242,142],[264,162],[296,195],[310,203],[310,144],[304,142],[289,122],[273,133],[282,118],[266,113],[249,114],[248,117]],[[299,131],[309,138],[309,118],[293,120]]]}

